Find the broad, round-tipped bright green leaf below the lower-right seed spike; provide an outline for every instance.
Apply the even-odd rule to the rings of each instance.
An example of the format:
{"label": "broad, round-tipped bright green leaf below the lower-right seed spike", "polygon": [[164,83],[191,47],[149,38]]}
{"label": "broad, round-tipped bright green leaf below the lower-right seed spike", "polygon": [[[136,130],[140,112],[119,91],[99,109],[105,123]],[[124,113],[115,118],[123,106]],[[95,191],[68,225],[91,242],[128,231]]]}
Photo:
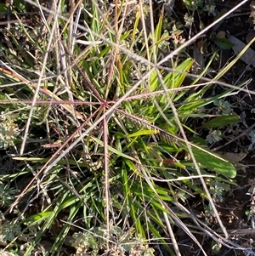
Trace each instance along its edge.
{"label": "broad, round-tipped bright green leaf below the lower-right seed spike", "polygon": [[218,174],[223,174],[229,178],[235,178],[236,170],[235,167],[219,158],[217,155],[213,155],[210,151],[200,151],[199,149],[192,148],[195,160],[204,168],[208,168],[211,171],[215,171]]}

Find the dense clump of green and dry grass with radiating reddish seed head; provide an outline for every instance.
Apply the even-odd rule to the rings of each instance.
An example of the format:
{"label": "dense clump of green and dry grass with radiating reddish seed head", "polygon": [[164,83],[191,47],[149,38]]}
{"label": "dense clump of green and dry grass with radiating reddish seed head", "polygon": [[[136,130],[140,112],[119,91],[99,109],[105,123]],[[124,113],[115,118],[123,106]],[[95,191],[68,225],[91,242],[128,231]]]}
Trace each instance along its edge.
{"label": "dense clump of green and dry grass with radiating reddish seed head", "polygon": [[[38,30],[14,9],[17,22],[5,30],[8,47],[1,46],[5,248],[31,255],[50,235],[43,255],[65,247],[73,255],[155,255],[162,248],[181,255],[173,226],[205,255],[194,226],[237,247],[215,206],[235,185],[235,167],[208,141],[239,121],[223,111],[224,99],[246,81],[219,80],[240,56],[208,79],[217,50],[194,75],[187,49],[238,6],[183,42],[179,30],[164,28],[162,11],[148,12],[152,2],[59,1],[50,12],[26,3],[40,11],[31,15]],[[184,85],[187,77],[193,81]],[[225,89],[212,96],[216,83]],[[203,221],[190,213],[192,200],[204,202]]]}

